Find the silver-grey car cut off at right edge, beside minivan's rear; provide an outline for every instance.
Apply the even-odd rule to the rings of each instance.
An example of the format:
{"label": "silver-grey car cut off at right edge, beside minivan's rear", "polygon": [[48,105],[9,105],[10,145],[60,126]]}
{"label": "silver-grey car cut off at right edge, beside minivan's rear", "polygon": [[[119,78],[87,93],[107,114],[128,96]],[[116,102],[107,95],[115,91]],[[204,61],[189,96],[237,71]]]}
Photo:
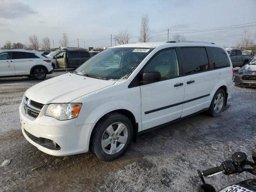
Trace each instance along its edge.
{"label": "silver-grey car cut off at right edge, beside minivan's rear", "polygon": [[234,81],[236,86],[256,87],[256,56],[235,73]]}

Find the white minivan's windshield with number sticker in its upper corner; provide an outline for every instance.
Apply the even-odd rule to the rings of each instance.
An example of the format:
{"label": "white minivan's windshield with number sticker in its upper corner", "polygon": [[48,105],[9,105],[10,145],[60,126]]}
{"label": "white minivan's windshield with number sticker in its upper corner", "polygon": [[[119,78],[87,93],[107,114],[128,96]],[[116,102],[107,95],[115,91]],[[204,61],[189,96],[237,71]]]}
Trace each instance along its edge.
{"label": "white minivan's windshield with number sticker in its upper corner", "polygon": [[126,79],[152,48],[108,48],[82,64],[74,73],[104,80]]}

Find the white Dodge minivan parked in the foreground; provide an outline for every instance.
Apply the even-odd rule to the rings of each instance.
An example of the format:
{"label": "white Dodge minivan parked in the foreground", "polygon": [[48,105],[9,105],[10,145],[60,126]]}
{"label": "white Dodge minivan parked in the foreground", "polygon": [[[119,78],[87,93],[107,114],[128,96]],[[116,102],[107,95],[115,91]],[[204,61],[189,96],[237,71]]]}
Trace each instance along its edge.
{"label": "white Dodge minivan parked in the foreground", "polygon": [[22,132],[50,155],[90,149],[110,161],[138,134],[206,110],[219,116],[232,88],[230,58],[213,43],[114,46],[29,88],[20,104]]}

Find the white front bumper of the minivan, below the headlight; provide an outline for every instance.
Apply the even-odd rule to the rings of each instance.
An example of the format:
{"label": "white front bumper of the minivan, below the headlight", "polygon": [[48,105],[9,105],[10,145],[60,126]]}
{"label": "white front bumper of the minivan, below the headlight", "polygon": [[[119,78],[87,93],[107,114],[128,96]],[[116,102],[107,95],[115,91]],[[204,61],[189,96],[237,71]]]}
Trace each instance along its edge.
{"label": "white front bumper of the minivan, below the headlight", "polygon": [[[94,124],[75,126],[76,118],[59,121],[44,116],[46,108],[47,106],[44,106],[38,117],[31,120],[25,114],[23,102],[20,104],[20,122],[22,133],[26,140],[42,152],[53,156],[67,156],[88,152],[90,134]],[[49,147],[51,146],[49,145],[50,141],[56,142],[59,148]]]}

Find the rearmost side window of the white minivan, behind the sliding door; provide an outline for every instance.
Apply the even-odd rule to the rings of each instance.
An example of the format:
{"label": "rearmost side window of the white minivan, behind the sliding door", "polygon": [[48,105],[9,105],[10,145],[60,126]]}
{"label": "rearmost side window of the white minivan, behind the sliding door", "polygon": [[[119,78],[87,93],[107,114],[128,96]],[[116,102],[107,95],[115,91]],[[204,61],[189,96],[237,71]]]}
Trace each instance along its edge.
{"label": "rearmost side window of the white minivan, behind the sliding door", "polygon": [[214,69],[230,66],[228,55],[222,48],[206,47],[206,50],[209,56],[210,64]]}

